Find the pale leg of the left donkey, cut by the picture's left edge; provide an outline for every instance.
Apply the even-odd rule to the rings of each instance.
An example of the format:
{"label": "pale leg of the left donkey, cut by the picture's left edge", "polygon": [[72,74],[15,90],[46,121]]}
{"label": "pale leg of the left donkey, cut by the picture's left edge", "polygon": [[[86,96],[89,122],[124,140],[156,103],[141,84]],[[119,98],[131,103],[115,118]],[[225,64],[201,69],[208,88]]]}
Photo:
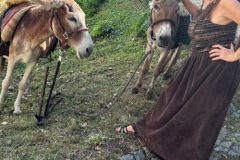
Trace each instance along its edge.
{"label": "pale leg of the left donkey, cut by the picture's left edge", "polygon": [[2,81],[2,91],[1,91],[1,95],[0,95],[0,112],[3,111],[4,98],[5,98],[6,92],[10,85],[10,81],[11,81],[11,77],[12,77],[12,73],[13,73],[15,64],[16,64],[15,59],[9,58],[8,66],[7,66],[7,73],[6,73],[4,80]]}

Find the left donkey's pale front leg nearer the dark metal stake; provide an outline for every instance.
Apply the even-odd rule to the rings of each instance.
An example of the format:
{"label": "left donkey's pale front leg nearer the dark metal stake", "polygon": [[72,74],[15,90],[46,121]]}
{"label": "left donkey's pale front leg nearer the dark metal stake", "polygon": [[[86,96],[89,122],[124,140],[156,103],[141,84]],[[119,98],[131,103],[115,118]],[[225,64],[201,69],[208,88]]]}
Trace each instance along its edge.
{"label": "left donkey's pale front leg nearer the dark metal stake", "polygon": [[32,69],[34,68],[35,65],[36,65],[36,62],[29,62],[26,64],[26,69],[25,69],[23,78],[22,78],[21,82],[19,83],[18,96],[14,103],[14,112],[13,112],[14,114],[22,113],[21,109],[20,109],[21,99],[24,94],[24,91],[26,90],[28,79],[31,75]]}

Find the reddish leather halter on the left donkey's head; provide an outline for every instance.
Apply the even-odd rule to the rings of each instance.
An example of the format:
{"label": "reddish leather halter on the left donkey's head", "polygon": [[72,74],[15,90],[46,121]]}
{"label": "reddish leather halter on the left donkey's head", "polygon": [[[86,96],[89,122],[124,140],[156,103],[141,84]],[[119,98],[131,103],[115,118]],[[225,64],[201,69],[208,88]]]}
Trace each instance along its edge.
{"label": "reddish leather halter on the left donkey's head", "polygon": [[81,32],[87,32],[88,31],[88,28],[84,28],[84,27],[77,27],[77,28],[75,28],[75,29],[73,29],[71,31],[67,31],[64,28],[64,26],[63,26],[63,24],[61,22],[61,19],[60,19],[59,15],[58,15],[57,9],[53,9],[52,10],[52,17],[51,17],[51,20],[50,20],[50,27],[51,27],[51,30],[53,32],[54,32],[54,30],[53,30],[53,24],[52,23],[53,23],[53,19],[54,18],[58,21],[58,23],[60,25],[60,28],[63,31],[60,38],[58,38],[57,35],[54,33],[55,36],[57,37],[57,39],[60,41],[60,45],[61,45],[61,49],[62,50],[65,50],[67,48],[67,43],[66,42],[67,42],[68,38],[72,34],[74,34],[74,33],[81,33]]}

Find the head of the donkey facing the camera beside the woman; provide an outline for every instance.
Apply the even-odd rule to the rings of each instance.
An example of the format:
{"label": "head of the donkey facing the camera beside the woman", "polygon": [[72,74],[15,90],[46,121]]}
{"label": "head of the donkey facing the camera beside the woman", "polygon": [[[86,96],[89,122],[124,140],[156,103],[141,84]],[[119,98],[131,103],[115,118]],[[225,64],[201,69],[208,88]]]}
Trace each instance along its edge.
{"label": "head of the donkey facing the camera beside the woman", "polygon": [[171,46],[178,30],[179,16],[176,0],[152,0],[150,2],[151,37],[159,47]]}

